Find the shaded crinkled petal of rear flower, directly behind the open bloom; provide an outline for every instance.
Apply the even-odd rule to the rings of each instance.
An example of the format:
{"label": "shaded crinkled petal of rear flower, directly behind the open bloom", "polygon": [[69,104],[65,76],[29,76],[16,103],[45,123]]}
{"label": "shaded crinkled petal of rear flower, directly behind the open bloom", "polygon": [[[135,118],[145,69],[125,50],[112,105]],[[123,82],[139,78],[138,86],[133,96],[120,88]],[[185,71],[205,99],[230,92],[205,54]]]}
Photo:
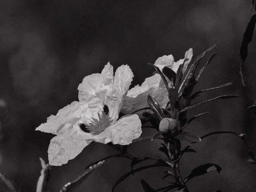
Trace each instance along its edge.
{"label": "shaded crinkled petal of rear flower, directly behind the open bloom", "polygon": [[[168,92],[159,74],[146,78],[141,86],[137,85],[128,91],[127,97],[125,97],[123,102],[122,113],[129,114],[138,109],[147,108],[148,95],[154,97],[161,108],[166,107],[168,102]],[[137,114],[141,116],[141,113],[143,112],[145,112],[145,110],[139,111]]]}

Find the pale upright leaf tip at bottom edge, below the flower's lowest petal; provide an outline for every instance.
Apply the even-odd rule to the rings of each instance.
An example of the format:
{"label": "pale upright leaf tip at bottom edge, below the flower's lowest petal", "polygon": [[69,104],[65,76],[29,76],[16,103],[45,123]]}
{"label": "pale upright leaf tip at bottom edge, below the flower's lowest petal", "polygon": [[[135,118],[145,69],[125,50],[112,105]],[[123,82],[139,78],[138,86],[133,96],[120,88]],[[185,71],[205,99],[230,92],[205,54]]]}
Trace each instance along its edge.
{"label": "pale upright leaf tip at bottom edge, below the flower's lowest petal", "polygon": [[39,159],[41,161],[42,170],[36,184],[36,192],[45,192],[50,177],[51,166],[49,164],[45,164],[44,159],[41,157]]}

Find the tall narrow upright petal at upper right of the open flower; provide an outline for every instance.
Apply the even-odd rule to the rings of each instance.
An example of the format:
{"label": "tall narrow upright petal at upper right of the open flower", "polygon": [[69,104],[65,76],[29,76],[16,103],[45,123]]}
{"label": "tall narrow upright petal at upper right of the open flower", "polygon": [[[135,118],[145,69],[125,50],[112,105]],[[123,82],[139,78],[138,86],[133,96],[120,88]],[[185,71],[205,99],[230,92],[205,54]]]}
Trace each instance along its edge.
{"label": "tall narrow upright petal at upper right of the open flower", "polygon": [[113,85],[113,93],[108,97],[106,104],[109,108],[111,120],[116,120],[122,108],[122,102],[131,85],[133,73],[128,65],[122,65],[116,69]]}

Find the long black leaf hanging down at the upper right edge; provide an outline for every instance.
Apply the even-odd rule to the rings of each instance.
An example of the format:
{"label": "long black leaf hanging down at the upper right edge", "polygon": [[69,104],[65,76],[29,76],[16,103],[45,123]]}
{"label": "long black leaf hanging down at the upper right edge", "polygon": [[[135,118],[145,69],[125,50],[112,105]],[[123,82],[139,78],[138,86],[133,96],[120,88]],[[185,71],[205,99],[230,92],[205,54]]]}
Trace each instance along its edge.
{"label": "long black leaf hanging down at the upper right edge", "polygon": [[244,61],[246,60],[246,57],[248,54],[248,45],[250,44],[250,42],[252,42],[252,36],[253,36],[255,24],[256,24],[256,13],[252,15],[250,21],[247,24],[247,27],[244,31],[241,48],[240,48],[241,65],[240,65],[239,73],[240,73],[240,76],[242,79],[243,86],[245,86],[244,79],[243,79],[243,64],[244,64]]}

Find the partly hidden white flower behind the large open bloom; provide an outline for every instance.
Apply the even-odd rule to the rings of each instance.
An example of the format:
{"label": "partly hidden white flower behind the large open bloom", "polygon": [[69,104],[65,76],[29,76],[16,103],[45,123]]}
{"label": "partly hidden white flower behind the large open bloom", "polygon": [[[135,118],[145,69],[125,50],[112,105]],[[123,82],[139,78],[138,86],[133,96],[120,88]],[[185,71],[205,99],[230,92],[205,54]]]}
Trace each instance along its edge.
{"label": "partly hidden white flower behind the large open bloom", "polygon": [[[188,63],[191,61],[193,56],[193,49],[190,48],[185,53],[185,57],[182,60],[174,61],[172,54],[166,56],[161,56],[157,58],[154,65],[159,67],[162,71],[164,67],[171,68],[174,72],[177,72],[178,68],[184,62],[185,58],[188,59],[184,63],[184,67],[182,68],[182,72],[184,73],[186,68],[188,67]],[[129,114],[141,108],[147,108],[147,95],[151,95],[154,99],[157,100],[161,108],[165,108],[168,99],[168,92],[166,87],[164,86],[163,80],[159,74],[155,74],[154,76],[148,77],[141,84],[141,86],[136,85],[134,88],[128,91],[127,96],[124,99],[124,104],[122,107],[122,113]],[[145,110],[138,112],[138,115],[141,115]],[[148,111],[150,112],[150,111]]]}

